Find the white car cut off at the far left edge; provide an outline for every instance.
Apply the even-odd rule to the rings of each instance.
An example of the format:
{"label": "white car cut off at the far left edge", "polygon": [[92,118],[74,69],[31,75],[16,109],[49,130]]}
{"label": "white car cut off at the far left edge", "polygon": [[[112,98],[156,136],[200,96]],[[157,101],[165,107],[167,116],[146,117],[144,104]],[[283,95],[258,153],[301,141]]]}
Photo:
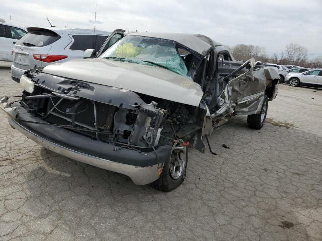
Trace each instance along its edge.
{"label": "white car cut off at the far left edge", "polygon": [[23,28],[0,23],[0,60],[12,61],[11,49],[25,34],[27,31]]}

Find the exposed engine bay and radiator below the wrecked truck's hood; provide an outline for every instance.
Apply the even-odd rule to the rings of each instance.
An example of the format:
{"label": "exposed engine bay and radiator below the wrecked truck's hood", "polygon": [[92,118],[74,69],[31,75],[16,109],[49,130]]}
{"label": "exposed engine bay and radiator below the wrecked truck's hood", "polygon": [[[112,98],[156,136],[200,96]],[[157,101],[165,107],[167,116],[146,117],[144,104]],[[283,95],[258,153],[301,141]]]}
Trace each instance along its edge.
{"label": "exposed engine bay and radiator below the wrecked truck's hood", "polygon": [[[53,78],[38,70],[30,71],[28,77],[40,79],[32,94],[24,91],[22,95],[21,106],[29,113],[51,125],[121,148],[151,151],[158,145],[171,145],[174,139],[189,141],[203,125],[198,107],[120,88]],[[94,95],[96,101],[91,99]],[[118,97],[112,99],[115,95]]]}

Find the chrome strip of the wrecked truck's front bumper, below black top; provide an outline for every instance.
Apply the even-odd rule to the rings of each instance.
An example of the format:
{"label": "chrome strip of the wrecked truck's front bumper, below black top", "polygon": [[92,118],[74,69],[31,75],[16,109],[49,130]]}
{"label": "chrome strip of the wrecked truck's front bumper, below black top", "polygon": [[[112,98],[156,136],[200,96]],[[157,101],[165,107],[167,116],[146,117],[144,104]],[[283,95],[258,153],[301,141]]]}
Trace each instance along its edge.
{"label": "chrome strip of the wrecked truck's front bumper, below black top", "polygon": [[15,116],[17,114],[16,110],[8,106],[7,99],[5,96],[0,98],[0,109],[2,109],[5,113],[8,114],[8,122],[10,126],[17,129],[17,131],[25,135],[27,138],[49,149],[50,151],[92,166],[124,174],[131,178],[132,181],[137,185],[145,185],[159,178],[159,176],[157,175],[157,169],[158,167],[162,167],[163,163],[146,167],[133,166],[78,152],[64,147],[62,145],[59,145],[57,143],[54,143],[50,140],[47,140],[46,138],[38,135],[37,133],[34,133],[32,130],[25,128],[23,125],[21,125],[15,120]]}

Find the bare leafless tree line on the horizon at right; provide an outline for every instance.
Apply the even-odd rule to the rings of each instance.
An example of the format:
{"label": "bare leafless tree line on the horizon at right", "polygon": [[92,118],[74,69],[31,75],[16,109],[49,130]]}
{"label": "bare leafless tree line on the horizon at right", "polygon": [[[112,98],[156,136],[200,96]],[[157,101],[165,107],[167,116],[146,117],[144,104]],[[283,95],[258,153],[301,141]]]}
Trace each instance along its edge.
{"label": "bare leafless tree line on the horizon at right", "polygon": [[256,61],[264,63],[291,64],[307,68],[322,67],[322,57],[308,61],[308,50],[300,44],[290,43],[282,53],[274,53],[272,56],[266,54],[265,47],[257,45],[237,44],[228,48],[236,60],[246,61],[253,57]]}

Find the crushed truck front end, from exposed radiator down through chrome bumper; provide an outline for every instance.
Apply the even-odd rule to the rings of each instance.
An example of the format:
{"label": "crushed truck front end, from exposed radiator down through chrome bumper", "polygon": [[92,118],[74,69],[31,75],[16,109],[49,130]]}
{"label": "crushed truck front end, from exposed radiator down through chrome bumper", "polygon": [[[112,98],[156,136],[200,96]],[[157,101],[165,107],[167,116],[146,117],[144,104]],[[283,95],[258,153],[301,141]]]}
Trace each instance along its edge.
{"label": "crushed truck front end, from exposed radiator down through chrome bumper", "polygon": [[33,70],[21,98],[3,96],[9,124],[66,157],[124,174],[135,184],[155,181],[171,145],[160,143],[167,111],[132,91]]}

